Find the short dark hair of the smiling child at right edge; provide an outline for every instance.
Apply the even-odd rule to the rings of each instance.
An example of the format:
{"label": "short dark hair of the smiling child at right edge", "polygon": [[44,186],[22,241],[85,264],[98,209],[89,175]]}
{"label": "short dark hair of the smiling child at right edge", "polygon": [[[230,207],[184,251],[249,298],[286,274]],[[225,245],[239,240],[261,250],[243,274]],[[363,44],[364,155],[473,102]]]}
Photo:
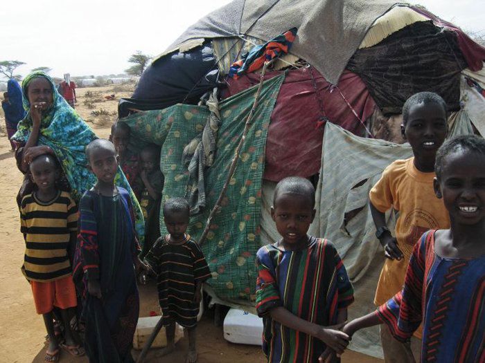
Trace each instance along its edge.
{"label": "short dark hair of the smiling child at right edge", "polygon": [[441,178],[446,156],[459,150],[471,151],[485,156],[485,140],[476,135],[460,135],[443,142],[443,145],[436,152],[436,161],[434,162],[436,178]]}

